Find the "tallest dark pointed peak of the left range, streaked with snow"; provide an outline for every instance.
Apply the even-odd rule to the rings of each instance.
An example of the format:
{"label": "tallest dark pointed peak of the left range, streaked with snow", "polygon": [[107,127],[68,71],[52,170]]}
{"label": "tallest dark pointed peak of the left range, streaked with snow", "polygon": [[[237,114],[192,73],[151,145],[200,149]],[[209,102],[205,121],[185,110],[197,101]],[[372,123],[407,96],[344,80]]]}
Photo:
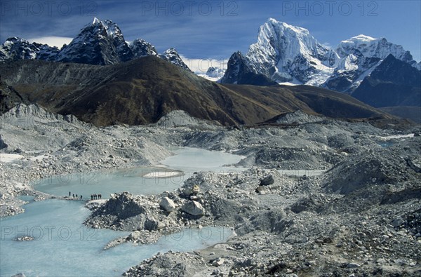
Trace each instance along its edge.
{"label": "tallest dark pointed peak of the left range, streaked with snow", "polygon": [[133,54],[119,26],[111,20],[86,25],[69,45],[58,54],[58,62],[109,65],[131,60]]}

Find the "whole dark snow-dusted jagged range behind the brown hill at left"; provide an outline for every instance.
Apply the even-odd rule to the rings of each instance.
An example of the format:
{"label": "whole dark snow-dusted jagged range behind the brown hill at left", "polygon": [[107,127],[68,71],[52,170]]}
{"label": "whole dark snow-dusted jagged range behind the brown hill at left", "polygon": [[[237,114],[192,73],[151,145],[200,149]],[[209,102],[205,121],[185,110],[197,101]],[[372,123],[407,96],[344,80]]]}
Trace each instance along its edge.
{"label": "whole dark snow-dusted jagged range behind the brown hill at left", "polygon": [[0,61],[38,59],[88,65],[113,65],[147,55],[159,56],[190,71],[174,48],[159,55],[151,43],[143,39],[128,42],[116,23],[98,18],[94,18],[83,27],[61,50],[46,44],[29,43],[18,37],[11,37],[0,46]]}

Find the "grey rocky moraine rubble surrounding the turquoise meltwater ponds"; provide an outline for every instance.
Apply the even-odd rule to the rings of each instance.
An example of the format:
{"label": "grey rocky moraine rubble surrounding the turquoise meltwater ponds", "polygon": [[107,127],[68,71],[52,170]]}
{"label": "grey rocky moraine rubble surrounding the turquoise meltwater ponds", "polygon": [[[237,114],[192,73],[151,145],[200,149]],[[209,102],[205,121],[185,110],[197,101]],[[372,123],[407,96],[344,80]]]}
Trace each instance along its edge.
{"label": "grey rocky moraine rubble surrounding the turquoise meltwater ponds", "polygon": [[32,189],[41,177],[154,165],[168,146],[224,150],[246,156],[238,165],[248,170],[194,173],[176,191],[88,205],[88,226],[131,231],[106,248],[185,227],[234,231],[227,243],[159,253],[123,275],[421,276],[420,128],[279,120],[294,118],[288,128],[227,130],[173,112],[151,126],[96,128],[20,105],[0,117],[1,216],[22,212],[21,194],[53,197]]}

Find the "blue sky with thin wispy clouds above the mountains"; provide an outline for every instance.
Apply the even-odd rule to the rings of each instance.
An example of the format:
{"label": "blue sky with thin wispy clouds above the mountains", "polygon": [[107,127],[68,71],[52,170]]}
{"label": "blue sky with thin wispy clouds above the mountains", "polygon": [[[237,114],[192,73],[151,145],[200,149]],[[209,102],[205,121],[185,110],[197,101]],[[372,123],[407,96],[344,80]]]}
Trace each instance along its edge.
{"label": "blue sky with thin wispy clouds above the mountains", "polygon": [[[125,39],[159,52],[227,59],[246,53],[267,18],[309,29],[321,43],[366,34],[385,37],[421,60],[421,1],[0,0],[0,41],[8,36],[72,38],[94,17],[116,22]],[[51,38],[50,38],[51,41]]]}

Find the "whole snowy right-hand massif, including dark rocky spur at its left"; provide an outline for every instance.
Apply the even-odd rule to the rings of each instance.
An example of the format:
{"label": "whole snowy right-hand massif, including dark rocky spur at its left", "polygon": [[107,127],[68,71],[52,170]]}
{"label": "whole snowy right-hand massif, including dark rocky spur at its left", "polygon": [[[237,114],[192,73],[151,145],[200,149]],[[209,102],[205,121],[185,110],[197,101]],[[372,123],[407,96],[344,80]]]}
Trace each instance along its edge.
{"label": "whole snowy right-hand massif, including dark rocky spur at its left", "polygon": [[[222,82],[235,83],[250,74],[264,75],[277,83],[302,83],[352,93],[388,55],[421,67],[402,46],[385,38],[359,34],[333,49],[319,43],[308,29],[269,18],[246,56],[234,53]],[[241,60],[241,68],[239,62]]]}

